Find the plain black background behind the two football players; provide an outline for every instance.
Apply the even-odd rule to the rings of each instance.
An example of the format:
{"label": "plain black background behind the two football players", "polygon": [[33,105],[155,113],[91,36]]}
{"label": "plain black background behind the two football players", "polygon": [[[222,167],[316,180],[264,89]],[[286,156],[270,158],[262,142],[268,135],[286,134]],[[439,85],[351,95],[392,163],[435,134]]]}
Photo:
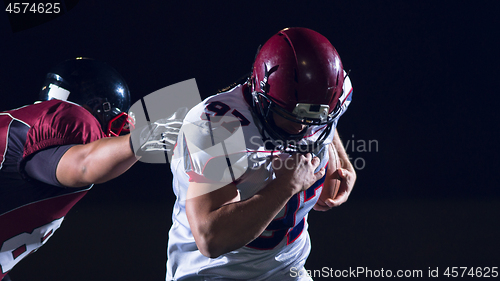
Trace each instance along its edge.
{"label": "plain black background behind the two football players", "polygon": [[[47,70],[76,56],[114,66],[133,101],[190,78],[204,98],[278,30],[308,27],[351,70],[338,129],[360,169],[346,204],[310,214],[307,268],[500,266],[500,7],[437,2],[89,0],[18,32],[2,11],[0,110],[32,103]],[[11,276],[164,280],[173,201],[168,165],[138,163],[96,185]]]}

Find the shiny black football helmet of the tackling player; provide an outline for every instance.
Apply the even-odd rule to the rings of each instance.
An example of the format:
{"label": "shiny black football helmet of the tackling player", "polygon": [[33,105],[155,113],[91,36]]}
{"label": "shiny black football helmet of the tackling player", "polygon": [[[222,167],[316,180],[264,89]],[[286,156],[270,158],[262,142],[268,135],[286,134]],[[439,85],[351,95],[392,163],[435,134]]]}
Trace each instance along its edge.
{"label": "shiny black football helmet of the tackling player", "polygon": [[83,106],[107,136],[128,133],[134,126],[130,92],[125,79],[108,64],[89,58],[66,60],[52,68],[39,99],[67,100]]}

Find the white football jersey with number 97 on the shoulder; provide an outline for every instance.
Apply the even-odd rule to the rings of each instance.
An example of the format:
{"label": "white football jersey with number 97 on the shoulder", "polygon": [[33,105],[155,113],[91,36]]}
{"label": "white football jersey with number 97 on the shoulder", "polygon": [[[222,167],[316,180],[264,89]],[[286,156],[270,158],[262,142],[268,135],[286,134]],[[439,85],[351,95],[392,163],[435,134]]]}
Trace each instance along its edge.
{"label": "white football jersey with number 97 on the shoulder", "polygon": [[[189,227],[185,203],[190,181],[211,182],[215,188],[232,182],[245,200],[274,178],[271,155],[289,157],[269,148],[273,146],[266,148],[265,142],[276,142],[266,139],[265,133],[262,136],[261,125],[243,96],[244,87],[237,85],[207,98],[184,119],[170,164],[177,200],[169,231],[166,280],[302,280],[291,269],[303,268],[309,255],[307,214],[319,198],[324,177],[295,194],[257,239],[217,258],[200,253]],[[349,106],[351,93],[347,77],[340,115]],[[321,159],[318,169],[328,163],[326,147],[338,117],[323,146],[314,152]],[[309,127],[299,144],[314,142],[324,128]]]}

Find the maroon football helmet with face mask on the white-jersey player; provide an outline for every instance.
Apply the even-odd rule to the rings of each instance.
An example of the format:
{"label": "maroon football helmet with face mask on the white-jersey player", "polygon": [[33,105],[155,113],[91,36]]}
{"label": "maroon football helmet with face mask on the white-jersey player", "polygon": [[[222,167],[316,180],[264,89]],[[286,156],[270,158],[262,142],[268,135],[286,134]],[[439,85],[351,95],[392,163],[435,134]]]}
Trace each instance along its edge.
{"label": "maroon football helmet with face mask on the white-jersey player", "polygon": [[340,113],[344,69],[323,35],[307,28],[286,28],[259,50],[253,65],[253,109],[275,140],[301,139],[275,126],[272,112],[293,122],[325,125],[323,141]]}

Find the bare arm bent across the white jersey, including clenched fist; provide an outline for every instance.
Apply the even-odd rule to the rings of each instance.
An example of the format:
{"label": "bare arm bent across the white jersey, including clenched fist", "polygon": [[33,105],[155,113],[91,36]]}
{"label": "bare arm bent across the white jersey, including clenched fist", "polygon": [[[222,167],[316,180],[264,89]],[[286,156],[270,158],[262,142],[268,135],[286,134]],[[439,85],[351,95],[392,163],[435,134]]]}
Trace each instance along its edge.
{"label": "bare arm bent across the white jersey, including clenched fist", "polygon": [[[275,165],[281,168],[275,170],[274,180],[244,201],[239,201],[232,183],[188,199],[186,215],[200,252],[215,258],[257,238],[294,194],[324,176],[324,169],[314,173],[319,162],[311,154],[294,154],[288,158],[288,165]],[[189,190],[207,188],[204,185],[207,184],[191,183],[188,194]]]}

